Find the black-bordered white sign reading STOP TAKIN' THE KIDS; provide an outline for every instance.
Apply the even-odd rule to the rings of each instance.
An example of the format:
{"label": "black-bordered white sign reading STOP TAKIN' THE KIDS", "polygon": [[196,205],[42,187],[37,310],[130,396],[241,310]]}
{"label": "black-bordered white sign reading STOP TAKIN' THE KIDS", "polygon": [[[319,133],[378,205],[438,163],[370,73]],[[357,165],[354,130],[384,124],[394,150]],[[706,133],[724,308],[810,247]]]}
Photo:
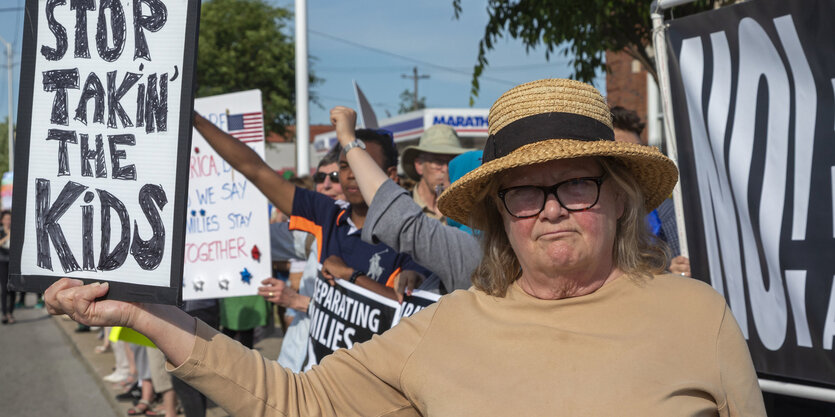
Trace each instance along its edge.
{"label": "black-bordered white sign reading STOP TAKIN' THE KIDS", "polygon": [[10,281],[176,303],[198,0],[27,0]]}

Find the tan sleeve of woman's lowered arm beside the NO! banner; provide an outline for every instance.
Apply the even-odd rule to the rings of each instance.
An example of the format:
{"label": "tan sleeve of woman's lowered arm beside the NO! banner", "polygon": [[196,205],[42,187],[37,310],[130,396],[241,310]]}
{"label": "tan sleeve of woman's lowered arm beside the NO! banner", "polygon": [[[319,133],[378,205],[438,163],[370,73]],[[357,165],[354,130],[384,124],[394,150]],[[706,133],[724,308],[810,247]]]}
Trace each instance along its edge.
{"label": "tan sleeve of woman's lowered arm beside the NO! banner", "polygon": [[727,306],[719,327],[716,350],[719,376],[725,390],[725,404],[720,405],[719,415],[765,416],[763,395],[748,345]]}

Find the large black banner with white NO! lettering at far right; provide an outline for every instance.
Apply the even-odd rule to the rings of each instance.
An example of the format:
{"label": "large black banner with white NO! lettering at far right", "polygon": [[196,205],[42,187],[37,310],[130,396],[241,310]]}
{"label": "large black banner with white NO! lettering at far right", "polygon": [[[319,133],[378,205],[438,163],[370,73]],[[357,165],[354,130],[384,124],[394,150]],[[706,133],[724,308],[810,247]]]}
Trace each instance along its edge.
{"label": "large black banner with white NO! lettering at far right", "polygon": [[669,22],[694,276],[757,371],[835,384],[835,1],[758,0]]}

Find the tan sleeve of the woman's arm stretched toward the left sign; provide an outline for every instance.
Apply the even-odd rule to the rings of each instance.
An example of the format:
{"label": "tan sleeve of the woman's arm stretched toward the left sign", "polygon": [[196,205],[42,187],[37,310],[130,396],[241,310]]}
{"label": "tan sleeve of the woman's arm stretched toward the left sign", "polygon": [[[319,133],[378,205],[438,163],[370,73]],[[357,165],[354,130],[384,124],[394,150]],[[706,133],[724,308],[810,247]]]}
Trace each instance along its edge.
{"label": "tan sleeve of the woman's arm stretched toward the left sign", "polygon": [[236,416],[418,416],[401,375],[436,305],[368,342],[336,351],[303,374],[197,321],[191,355],[169,370]]}

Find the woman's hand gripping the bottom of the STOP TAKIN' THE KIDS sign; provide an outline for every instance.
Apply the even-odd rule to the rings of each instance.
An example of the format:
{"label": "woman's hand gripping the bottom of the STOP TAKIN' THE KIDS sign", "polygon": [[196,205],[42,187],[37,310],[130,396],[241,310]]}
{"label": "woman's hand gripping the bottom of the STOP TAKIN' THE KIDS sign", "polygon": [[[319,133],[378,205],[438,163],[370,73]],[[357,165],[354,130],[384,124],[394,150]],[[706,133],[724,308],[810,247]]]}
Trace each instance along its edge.
{"label": "woman's hand gripping the bottom of the STOP TAKIN' THE KIDS sign", "polygon": [[97,300],[109,289],[106,282],[84,285],[81,280],[61,278],[44,292],[46,311],[52,315],[66,314],[88,326],[133,327],[134,316],[139,310],[136,304]]}

